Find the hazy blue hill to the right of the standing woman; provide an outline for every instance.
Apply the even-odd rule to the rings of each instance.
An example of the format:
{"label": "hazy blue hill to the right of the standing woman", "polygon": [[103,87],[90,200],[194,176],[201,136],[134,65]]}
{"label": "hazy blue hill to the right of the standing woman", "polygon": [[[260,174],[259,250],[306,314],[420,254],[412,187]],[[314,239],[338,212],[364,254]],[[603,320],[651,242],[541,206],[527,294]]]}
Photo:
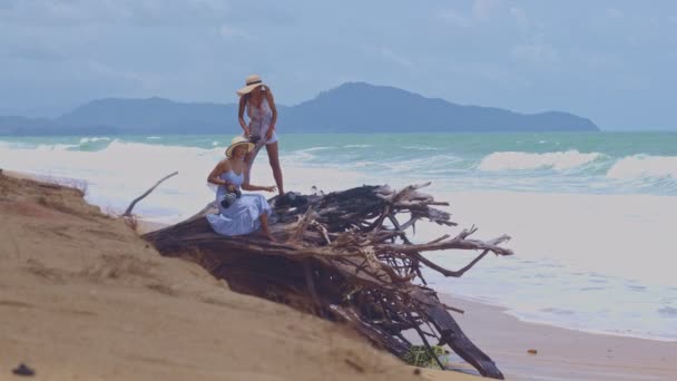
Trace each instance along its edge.
{"label": "hazy blue hill to the right of the standing woman", "polygon": [[599,130],[567,113],[517,114],[460,106],[386,86],[344,84],[287,110],[290,130],[333,133],[567,131]]}

